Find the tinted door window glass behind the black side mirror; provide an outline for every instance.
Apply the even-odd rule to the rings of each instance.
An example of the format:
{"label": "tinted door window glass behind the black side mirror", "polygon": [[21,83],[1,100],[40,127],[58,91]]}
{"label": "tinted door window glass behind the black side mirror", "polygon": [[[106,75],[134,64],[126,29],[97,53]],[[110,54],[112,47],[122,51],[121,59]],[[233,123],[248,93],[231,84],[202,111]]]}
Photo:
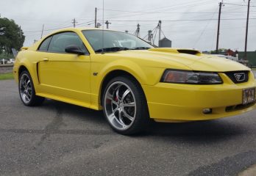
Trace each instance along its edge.
{"label": "tinted door window glass behind the black side mirror", "polygon": [[55,34],[51,39],[48,51],[53,53],[65,53],[65,48],[69,45],[77,45],[82,51],[88,54],[84,43],[82,43],[82,40],[74,32]]}

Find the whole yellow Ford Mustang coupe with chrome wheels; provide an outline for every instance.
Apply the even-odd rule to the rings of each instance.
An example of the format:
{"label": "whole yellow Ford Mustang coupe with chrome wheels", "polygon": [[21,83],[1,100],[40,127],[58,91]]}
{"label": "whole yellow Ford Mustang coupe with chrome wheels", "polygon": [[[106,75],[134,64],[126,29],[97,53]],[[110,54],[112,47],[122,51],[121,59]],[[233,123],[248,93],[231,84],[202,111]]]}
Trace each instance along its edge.
{"label": "whole yellow Ford Mustang coupe with chrome wheels", "polygon": [[21,48],[21,100],[104,111],[118,133],[157,122],[213,120],[255,109],[255,77],[238,62],[190,49],[154,48],[124,32],[62,29]]}

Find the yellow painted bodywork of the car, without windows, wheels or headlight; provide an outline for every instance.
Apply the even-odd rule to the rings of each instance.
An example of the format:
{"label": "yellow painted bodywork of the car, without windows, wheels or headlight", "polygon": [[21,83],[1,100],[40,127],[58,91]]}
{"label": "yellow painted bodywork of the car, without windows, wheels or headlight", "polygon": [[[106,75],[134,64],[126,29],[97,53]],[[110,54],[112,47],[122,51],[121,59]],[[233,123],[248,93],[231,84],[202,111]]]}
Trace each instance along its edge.
{"label": "yellow painted bodywork of the car, without windows, wheels or headlight", "polygon": [[[104,78],[115,70],[123,70],[141,84],[149,108],[149,115],[160,122],[212,120],[241,114],[255,109],[255,104],[226,111],[227,107],[242,103],[242,91],[256,87],[253,74],[249,81],[233,83],[224,74],[227,71],[250,70],[249,67],[229,59],[201,54],[179,53],[178,48],[151,48],[143,51],[118,51],[96,54],[82,34],[85,28],[61,29],[75,32],[85,44],[90,55],[57,54],[37,51],[39,40],[31,47],[21,48],[16,57],[13,73],[18,82],[21,67],[26,67],[35,86],[36,95],[90,109],[101,110],[101,92]],[[97,29],[94,29],[97,30]],[[193,51],[193,50],[191,50]],[[192,85],[160,82],[166,69],[216,72],[223,84]],[[203,109],[213,109],[204,114]]]}

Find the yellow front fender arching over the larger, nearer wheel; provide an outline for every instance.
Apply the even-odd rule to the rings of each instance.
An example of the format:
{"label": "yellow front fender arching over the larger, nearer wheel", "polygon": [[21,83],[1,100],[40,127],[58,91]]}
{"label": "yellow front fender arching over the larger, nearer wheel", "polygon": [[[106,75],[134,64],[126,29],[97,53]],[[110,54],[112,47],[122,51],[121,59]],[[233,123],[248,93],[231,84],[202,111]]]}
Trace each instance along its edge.
{"label": "yellow front fender arching over the larger, nearer wheel", "polygon": [[137,62],[130,59],[118,58],[111,59],[111,61],[106,57],[99,60],[92,59],[90,77],[92,106],[99,106],[104,78],[114,70],[122,70],[131,74],[141,85],[157,84],[164,71],[163,68],[159,67],[138,65]]}

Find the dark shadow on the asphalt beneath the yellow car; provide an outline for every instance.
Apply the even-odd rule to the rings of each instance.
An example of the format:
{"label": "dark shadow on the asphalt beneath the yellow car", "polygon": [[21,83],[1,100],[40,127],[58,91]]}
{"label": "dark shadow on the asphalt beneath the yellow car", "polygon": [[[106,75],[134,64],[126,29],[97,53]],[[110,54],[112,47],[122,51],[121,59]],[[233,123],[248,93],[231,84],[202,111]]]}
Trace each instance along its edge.
{"label": "dark shadow on the asphalt beneath the yellow car", "polygon": [[[91,122],[96,125],[108,125],[102,111],[95,111],[81,106],[75,106],[69,103],[63,103],[57,100],[46,100],[42,106],[43,109],[57,108],[63,113],[68,113],[71,118],[81,122]],[[235,136],[240,136],[247,133],[249,129],[242,122],[234,122],[232,118],[224,118],[220,120],[205,120],[196,122],[182,123],[162,123],[150,122],[149,126],[137,135],[130,137],[145,137],[145,136],[165,136],[171,138],[193,140],[199,142],[205,141],[226,140]],[[110,128],[109,128],[110,129]],[[111,131],[111,129],[110,129]],[[115,133],[114,131],[112,131]],[[111,132],[110,132],[111,133]]]}

